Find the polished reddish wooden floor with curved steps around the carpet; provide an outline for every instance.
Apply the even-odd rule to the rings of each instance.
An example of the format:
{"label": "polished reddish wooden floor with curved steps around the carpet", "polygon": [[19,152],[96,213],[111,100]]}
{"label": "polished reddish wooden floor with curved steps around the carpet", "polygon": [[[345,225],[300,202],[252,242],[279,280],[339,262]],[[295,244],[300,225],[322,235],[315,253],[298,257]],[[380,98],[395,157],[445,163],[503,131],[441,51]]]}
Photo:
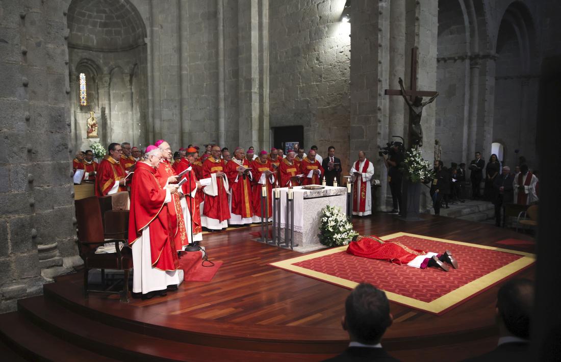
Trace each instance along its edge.
{"label": "polished reddish wooden floor with curved steps around the carpet", "polygon": [[[353,224],[362,235],[402,231],[482,245],[511,237],[531,240],[488,224],[430,215],[403,222],[375,214]],[[6,345],[25,350],[2,327],[9,322],[2,317],[22,315],[62,342],[118,360],[322,360],[344,350],[348,337],[341,316],[349,291],[270,267],[301,254],[252,241],[249,233],[258,230],[206,234],[201,244],[209,259],[224,264],[213,281],[185,282],[166,297],[129,304],[96,294],[84,299],[81,274],[59,277],[45,285],[44,296],[21,300],[19,312],[0,316],[0,336]],[[531,267],[518,276],[533,278],[534,271]],[[491,350],[497,290],[492,287],[441,316],[392,303],[394,324],[383,346],[402,360],[461,360]],[[42,352],[26,353],[29,358]]]}

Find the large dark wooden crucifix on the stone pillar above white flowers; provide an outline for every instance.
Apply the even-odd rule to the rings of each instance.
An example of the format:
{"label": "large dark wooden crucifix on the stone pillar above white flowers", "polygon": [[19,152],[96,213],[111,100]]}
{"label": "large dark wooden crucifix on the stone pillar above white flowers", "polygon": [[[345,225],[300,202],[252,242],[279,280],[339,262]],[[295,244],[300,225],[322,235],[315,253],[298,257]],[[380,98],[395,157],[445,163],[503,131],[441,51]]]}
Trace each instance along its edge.
{"label": "large dark wooden crucifix on the stone pillar above white flowers", "polygon": [[[431,97],[428,102],[430,103],[436,98],[438,92],[436,91],[428,91],[428,90],[417,90],[417,68],[419,67],[419,61],[417,59],[417,53],[419,53],[419,48],[414,47],[411,49],[411,76],[410,76],[410,89],[402,91],[401,89],[386,89],[384,91],[385,95],[406,95],[410,103],[413,103],[415,97]],[[425,103],[419,104],[418,107],[413,107],[415,105],[409,104],[409,134],[408,134],[408,143],[410,143],[409,148],[413,146],[420,146],[422,145],[422,131],[421,131],[421,112],[422,108],[426,105]],[[416,115],[412,114],[412,109],[417,113]],[[413,139],[412,136],[412,123],[417,123],[416,130],[415,130],[415,138]],[[420,141],[419,141],[420,140]]]}

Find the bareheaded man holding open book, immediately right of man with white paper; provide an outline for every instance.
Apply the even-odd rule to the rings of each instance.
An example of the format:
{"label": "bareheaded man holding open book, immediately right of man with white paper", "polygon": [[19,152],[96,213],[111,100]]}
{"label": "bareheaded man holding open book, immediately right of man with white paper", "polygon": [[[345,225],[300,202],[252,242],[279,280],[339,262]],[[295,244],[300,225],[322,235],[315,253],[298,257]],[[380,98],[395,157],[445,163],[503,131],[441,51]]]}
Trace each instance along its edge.
{"label": "bareheaded man holding open book, immediately right of man with white paper", "polygon": [[224,172],[230,185],[230,218],[228,224],[244,225],[253,221],[251,181],[253,173],[241,147],[234,150],[234,157],[228,161]]}

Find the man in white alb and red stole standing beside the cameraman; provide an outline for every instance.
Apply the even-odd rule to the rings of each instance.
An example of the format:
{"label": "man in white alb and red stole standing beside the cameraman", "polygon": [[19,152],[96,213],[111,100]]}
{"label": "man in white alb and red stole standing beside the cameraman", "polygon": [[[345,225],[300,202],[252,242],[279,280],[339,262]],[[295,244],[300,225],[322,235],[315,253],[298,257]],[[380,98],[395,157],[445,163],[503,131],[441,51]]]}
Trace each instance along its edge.
{"label": "man in white alb and red stole standing beside the cameraman", "polygon": [[351,168],[353,182],[352,214],[367,216],[372,213],[370,180],[374,176],[374,164],[366,159],[364,151],[358,151],[358,160]]}

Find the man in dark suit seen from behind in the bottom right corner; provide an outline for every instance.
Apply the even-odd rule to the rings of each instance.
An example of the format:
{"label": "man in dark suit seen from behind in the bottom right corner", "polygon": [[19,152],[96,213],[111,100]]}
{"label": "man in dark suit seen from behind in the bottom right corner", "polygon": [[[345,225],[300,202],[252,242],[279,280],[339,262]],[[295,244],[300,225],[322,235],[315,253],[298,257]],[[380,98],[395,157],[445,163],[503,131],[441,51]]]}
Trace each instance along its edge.
{"label": "man in dark suit seen from behind in the bottom right corner", "polygon": [[530,313],[534,307],[534,283],[528,279],[511,279],[497,295],[495,318],[499,326],[499,343],[491,352],[467,361],[531,361]]}

